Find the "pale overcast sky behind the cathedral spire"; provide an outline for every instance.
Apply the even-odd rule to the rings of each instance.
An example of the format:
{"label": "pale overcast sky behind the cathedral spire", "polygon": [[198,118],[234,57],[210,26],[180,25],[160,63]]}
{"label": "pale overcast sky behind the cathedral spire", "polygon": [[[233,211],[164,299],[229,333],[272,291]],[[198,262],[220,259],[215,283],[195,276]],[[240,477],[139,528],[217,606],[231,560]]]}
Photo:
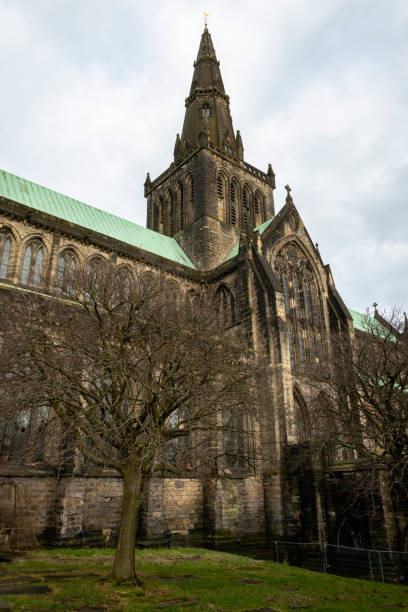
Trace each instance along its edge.
{"label": "pale overcast sky behind the cathedral spire", "polygon": [[245,159],[349,307],[408,306],[408,0],[0,0],[0,168],[145,225],[203,11]]}

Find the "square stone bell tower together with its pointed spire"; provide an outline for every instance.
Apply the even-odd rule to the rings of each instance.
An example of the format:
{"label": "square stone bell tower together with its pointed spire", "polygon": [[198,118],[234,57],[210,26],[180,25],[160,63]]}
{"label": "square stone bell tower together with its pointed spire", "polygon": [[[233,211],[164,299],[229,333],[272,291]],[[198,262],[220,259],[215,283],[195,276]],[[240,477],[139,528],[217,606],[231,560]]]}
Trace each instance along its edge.
{"label": "square stone bell tower together with its pointed spire", "polygon": [[240,234],[274,216],[275,175],[244,161],[210,32],[201,36],[174,160],[147,175],[147,227],[174,236],[200,270],[220,265]]}

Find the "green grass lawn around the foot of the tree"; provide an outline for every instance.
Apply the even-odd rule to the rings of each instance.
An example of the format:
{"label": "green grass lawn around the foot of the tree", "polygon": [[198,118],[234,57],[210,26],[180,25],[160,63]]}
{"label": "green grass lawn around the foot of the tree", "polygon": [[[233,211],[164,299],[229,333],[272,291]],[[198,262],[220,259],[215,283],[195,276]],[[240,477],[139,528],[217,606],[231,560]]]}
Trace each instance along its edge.
{"label": "green grass lawn around the foot of the tree", "polygon": [[146,585],[145,594],[136,595],[111,581],[113,554],[110,549],[30,551],[1,564],[0,600],[27,612],[408,610],[404,586],[191,548],[136,551]]}

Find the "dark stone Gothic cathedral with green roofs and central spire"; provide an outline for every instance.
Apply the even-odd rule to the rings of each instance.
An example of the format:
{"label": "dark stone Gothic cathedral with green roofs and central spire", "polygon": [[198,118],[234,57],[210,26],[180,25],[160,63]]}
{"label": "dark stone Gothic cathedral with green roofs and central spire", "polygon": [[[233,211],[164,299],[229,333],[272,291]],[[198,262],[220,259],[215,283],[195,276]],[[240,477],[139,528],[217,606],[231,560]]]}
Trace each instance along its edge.
{"label": "dark stone Gothic cathedral with green roofs and central spire", "polygon": [[[265,373],[271,405],[258,424],[264,462],[256,473],[230,465],[207,482],[163,477],[146,494],[141,537],[172,530],[190,538],[273,534],[352,543],[333,493],[312,465],[291,471],[289,459],[307,438],[307,375],[322,339],[330,342],[339,328],[353,336],[359,315],[338,294],[290,188],[276,213],[272,166],[264,171],[244,159],[207,27],[185,106],[174,159],[144,184],[147,228],[0,171],[2,307],[11,307],[17,292],[47,293],[55,276],[65,282],[72,271],[107,260],[129,274],[159,270],[182,291],[210,285],[225,322],[272,366]],[[57,473],[38,457],[15,460],[38,419],[22,413],[0,430],[1,476],[25,486],[36,533],[71,541],[84,533],[114,535],[116,474]],[[375,534],[365,537],[375,544]]]}

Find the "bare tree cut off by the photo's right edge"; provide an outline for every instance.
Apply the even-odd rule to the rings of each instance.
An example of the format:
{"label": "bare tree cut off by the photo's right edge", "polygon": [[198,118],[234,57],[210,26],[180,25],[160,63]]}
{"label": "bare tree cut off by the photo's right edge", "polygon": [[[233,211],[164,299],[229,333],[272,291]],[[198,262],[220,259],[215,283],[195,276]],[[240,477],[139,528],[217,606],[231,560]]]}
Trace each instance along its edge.
{"label": "bare tree cut off by the photo's right edge", "polygon": [[408,499],[407,322],[398,309],[376,311],[362,328],[353,343],[339,331],[313,373],[313,438],[328,466],[354,463],[362,495],[381,492],[396,529],[395,509]]}

